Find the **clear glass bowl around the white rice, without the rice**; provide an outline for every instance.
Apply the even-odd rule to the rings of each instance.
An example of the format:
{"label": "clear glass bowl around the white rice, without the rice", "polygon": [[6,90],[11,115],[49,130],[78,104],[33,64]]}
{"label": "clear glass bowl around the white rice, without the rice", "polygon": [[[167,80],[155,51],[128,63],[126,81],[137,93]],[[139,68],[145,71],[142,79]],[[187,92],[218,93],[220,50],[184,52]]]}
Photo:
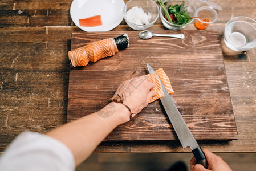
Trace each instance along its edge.
{"label": "clear glass bowl around the white rice, without the rice", "polygon": [[[151,13],[151,21],[148,24],[138,25],[127,19],[127,15],[126,15],[127,11],[135,6],[139,8],[141,7],[147,14]],[[146,0],[146,1],[130,0],[124,6],[124,20],[127,23],[127,25],[131,27],[133,30],[145,30],[151,27],[157,21],[157,18],[159,18],[159,7],[152,0]]]}

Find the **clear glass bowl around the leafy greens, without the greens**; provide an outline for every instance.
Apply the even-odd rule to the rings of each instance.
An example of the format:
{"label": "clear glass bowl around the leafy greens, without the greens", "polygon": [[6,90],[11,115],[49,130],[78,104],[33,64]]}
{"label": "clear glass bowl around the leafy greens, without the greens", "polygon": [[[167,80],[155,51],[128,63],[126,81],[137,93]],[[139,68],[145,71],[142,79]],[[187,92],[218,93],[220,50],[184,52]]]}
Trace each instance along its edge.
{"label": "clear glass bowl around the leafy greens, without the greens", "polygon": [[[180,5],[182,1],[180,0],[173,0],[173,1],[164,1],[164,3],[166,3],[166,9],[168,9],[169,5],[175,5],[178,4]],[[186,13],[190,15],[190,17],[196,17],[196,6],[194,6],[194,3],[189,1],[189,0],[184,0],[184,7],[186,8]],[[184,8],[183,7],[183,8]],[[194,19],[192,18],[192,20],[184,25],[176,25],[174,23],[170,23],[167,19],[165,19],[165,12],[164,9],[162,9],[162,7],[160,7],[160,18],[162,21],[162,24],[168,28],[169,30],[181,30],[183,28],[186,28],[186,26],[188,26],[190,23],[192,23],[194,21]]]}

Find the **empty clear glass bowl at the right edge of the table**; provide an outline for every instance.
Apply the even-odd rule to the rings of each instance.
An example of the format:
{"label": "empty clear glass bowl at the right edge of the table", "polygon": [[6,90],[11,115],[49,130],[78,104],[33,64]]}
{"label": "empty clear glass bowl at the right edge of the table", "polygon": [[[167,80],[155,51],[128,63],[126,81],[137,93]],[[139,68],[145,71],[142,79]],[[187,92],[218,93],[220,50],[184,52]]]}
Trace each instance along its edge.
{"label": "empty clear glass bowl at the right edge of the table", "polygon": [[256,21],[249,17],[234,17],[227,22],[224,42],[234,51],[247,51],[256,47]]}

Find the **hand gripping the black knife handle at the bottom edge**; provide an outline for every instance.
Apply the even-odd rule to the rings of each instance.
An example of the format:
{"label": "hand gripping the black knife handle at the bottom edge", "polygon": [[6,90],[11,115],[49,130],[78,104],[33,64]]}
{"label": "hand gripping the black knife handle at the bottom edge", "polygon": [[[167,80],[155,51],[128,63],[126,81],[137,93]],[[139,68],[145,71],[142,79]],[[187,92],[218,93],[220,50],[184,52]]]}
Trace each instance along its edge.
{"label": "hand gripping the black knife handle at the bottom edge", "polygon": [[190,160],[190,170],[191,171],[206,171],[206,170],[213,170],[213,171],[229,171],[231,170],[229,165],[226,164],[224,160],[220,156],[217,156],[210,152],[208,149],[202,149],[205,153],[206,160],[208,161],[208,169],[205,169],[204,166],[197,164],[196,158],[192,158]]}

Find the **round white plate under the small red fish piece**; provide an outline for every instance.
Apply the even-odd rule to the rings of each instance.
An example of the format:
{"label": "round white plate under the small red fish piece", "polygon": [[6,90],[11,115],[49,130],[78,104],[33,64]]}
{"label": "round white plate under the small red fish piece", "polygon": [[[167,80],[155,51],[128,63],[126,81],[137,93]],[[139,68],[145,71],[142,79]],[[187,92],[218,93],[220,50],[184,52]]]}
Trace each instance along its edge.
{"label": "round white plate under the small red fish piece", "polygon": [[[118,26],[124,18],[123,0],[74,0],[71,3],[70,15],[76,26],[84,31],[109,31]],[[83,27],[79,19],[101,15],[102,25]]]}

